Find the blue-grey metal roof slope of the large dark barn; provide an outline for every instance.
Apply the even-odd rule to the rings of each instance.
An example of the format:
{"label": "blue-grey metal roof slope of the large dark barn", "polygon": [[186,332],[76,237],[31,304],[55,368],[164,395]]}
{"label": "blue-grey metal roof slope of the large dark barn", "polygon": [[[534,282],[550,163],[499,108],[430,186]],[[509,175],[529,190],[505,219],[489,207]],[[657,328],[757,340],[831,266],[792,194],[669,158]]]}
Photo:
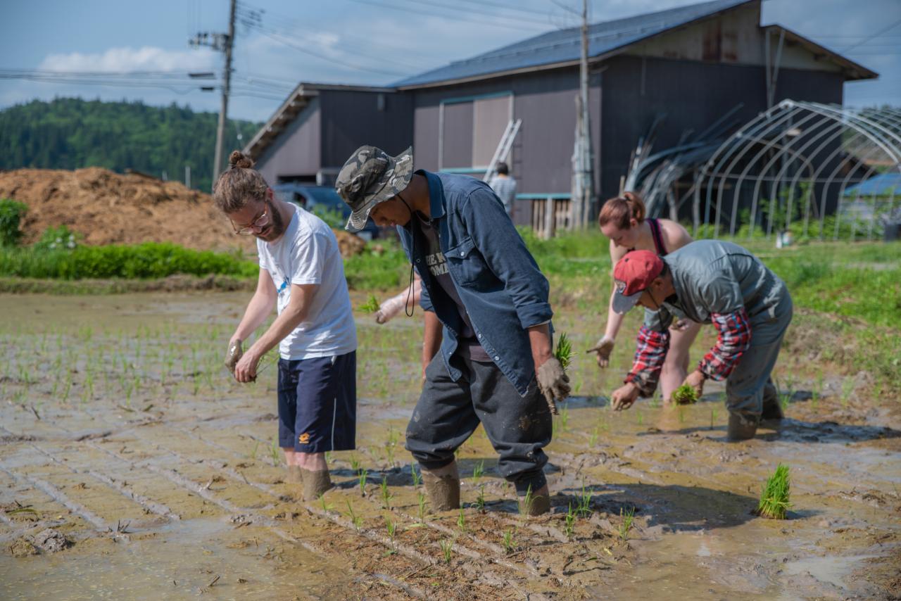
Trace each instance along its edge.
{"label": "blue-grey metal roof slope of the large dark barn", "polygon": [[[659,13],[595,23],[588,26],[588,56],[596,57],[674,27],[756,1],[758,0],[714,0],[699,5],[671,8]],[[543,33],[504,48],[479,54],[472,59],[452,62],[446,67],[407,77],[396,82],[394,86],[422,86],[439,81],[553,65],[578,60],[580,55],[581,32],[578,27],[572,27]]]}

